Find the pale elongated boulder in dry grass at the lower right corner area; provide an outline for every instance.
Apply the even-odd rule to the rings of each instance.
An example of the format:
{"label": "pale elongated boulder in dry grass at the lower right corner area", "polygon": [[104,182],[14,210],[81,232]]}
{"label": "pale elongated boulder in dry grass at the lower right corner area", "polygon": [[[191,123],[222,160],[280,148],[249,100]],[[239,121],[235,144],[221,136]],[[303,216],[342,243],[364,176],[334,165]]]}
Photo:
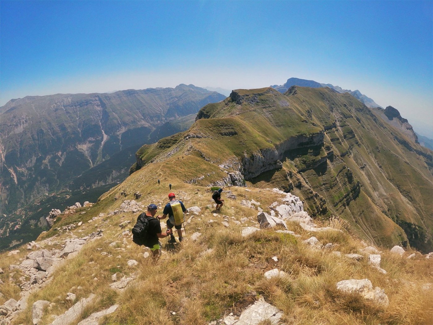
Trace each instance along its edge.
{"label": "pale elongated boulder in dry grass at the lower right corner area", "polygon": [[343,280],[336,284],[337,290],[345,293],[357,293],[363,296],[365,299],[375,302],[378,305],[387,307],[389,305],[388,296],[385,294],[385,290],[375,287],[370,280]]}

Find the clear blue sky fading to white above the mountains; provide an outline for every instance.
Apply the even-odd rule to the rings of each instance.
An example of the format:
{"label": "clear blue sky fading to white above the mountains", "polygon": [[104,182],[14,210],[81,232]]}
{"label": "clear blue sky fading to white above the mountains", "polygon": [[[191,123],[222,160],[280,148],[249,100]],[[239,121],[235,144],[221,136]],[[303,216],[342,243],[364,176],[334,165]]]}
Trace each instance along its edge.
{"label": "clear blue sky fading to white above the mountains", "polygon": [[433,1],[0,2],[0,105],[129,88],[359,89],[433,137]]}

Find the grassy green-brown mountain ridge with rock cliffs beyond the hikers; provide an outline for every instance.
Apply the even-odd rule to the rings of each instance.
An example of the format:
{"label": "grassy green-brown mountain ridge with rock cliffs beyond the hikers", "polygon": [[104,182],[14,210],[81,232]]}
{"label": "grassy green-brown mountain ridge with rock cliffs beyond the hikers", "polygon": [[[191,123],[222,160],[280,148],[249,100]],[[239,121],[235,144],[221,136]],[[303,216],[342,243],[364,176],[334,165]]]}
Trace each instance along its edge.
{"label": "grassy green-brown mountain ridge with rock cliffs beyond the hikers", "polygon": [[376,244],[433,247],[432,152],[347,93],[236,90],[136,156],[130,172],[165,161],[184,182],[275,186]]}

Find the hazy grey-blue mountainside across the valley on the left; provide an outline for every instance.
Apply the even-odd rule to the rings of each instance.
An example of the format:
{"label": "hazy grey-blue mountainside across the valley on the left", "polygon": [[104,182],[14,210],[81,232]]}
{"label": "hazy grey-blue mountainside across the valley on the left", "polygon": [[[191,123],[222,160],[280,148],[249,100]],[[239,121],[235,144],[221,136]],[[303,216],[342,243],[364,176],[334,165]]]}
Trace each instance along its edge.
{"label": "hazy grey-blue mountainside across the valley on the left", "polygon": [[[186,130],[191,114],[224,98],[181,84],[112,94],[27,96],[0,107],[0,248],[36,238],[43,227],[40,214],[75,202],[63,202],[65,196],[85,192],[96,200],[125,179],[143,143]],[[41,198],[65,189],[70,192],[59,198]],[[46,201],[38,215],[29,211],[35,199]]]}

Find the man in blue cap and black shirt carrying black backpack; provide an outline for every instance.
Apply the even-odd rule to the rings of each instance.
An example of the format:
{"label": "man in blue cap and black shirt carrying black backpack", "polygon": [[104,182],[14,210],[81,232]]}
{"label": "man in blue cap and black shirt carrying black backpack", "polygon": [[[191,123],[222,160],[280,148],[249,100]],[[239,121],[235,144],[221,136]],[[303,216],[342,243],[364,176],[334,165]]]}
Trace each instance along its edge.
{"label": "man in blue cap and black shirt carrying black backpack", "polygon": [[[137,218],[137,223],[132,229],[132,234],[134,234],[134,237],[136,236],[135,228],[137,226],[140,226],[139,231],[141,231],[141,242],[137,242],[133,238],[134,242],[139,245],[145,245],[150,248],[152,251],[152,258],[154,262],[158,259],[159,254],[161,252],[162,244],[159,242],[158,238],[164,238],[168,235],[173,236],[173,231],[171,229],[168,229],[165,233],[162,233],[161,231],[161,224],[159,223],[160,216],[157,215],[155,218],[156,210],[158,207],[155,204],[151,204],[147,207],[147,211],[145,213],[142,213]],[[147,229],[146,229],[147,224]],[[144,230],[143,230],[144,228]],[[143,234],[144,233],[144,234]]]}

